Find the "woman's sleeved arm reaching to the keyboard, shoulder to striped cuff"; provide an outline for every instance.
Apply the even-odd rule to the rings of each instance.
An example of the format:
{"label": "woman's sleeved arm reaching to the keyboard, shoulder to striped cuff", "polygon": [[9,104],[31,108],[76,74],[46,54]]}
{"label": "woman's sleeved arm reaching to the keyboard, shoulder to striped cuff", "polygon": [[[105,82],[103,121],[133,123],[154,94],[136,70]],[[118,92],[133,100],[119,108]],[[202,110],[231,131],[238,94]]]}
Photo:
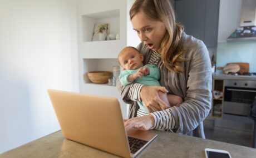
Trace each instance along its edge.
{"label": "woman's sleeved arm reaching to the keyboard, shoulder to striped cuff", "polygon": [[[153,129],[175,130],[188,134],[205,119],[211,108],[211,66],[208,50],[203,42],[191,55],[184,102],[165,111],[153,112]],[[173,124],[175,121],[175,125]],[[171,122],[171,124],[170,124]]]}

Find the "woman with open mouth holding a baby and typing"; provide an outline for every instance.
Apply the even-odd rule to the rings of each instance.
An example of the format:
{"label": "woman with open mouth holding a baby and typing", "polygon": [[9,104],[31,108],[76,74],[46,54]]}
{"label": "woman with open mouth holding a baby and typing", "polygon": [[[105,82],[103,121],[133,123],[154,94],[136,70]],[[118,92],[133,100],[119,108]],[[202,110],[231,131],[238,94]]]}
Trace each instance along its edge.
{"label": "woman with open mouth holding a baby and typing", "polygon": [[[130,9],[130,19],[141,40],[137,49],[144,55],[144,64],[160,68],[163,87],[139,83],[124,87],[117,82],[122,99],[131,103],[126,130],[158,129],[205,138],[203,120],[211,108],[211,66],[206,46],[183,32],[169,0],[137,0]],[[159,97],[163,92],[184,101],[168,107]],[[155,112],[141,116],[136,101]]]}

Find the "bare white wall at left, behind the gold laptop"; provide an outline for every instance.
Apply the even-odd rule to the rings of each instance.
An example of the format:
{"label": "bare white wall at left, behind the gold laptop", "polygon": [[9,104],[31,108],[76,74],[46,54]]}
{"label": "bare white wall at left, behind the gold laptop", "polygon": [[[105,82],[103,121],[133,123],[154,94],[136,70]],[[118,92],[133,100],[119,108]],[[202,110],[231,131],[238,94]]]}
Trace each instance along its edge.
{"label": "bare white wall at left, behind the gold laptop", "polygon": [[0,0],[0,153],[60,129],[47,88],[78,91],[76,3]]}

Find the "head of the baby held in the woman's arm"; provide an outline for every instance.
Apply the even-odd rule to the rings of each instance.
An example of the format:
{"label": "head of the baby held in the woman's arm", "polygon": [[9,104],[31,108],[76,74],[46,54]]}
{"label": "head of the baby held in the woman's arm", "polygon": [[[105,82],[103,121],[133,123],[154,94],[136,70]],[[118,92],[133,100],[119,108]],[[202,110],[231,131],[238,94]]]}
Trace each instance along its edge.
{"label": "head of the baby held in the woman's arm", "polygon": [[118,61],[124,70],[136,70],[143,66],[143,55],[134,47],[125,47],[118,55]]}

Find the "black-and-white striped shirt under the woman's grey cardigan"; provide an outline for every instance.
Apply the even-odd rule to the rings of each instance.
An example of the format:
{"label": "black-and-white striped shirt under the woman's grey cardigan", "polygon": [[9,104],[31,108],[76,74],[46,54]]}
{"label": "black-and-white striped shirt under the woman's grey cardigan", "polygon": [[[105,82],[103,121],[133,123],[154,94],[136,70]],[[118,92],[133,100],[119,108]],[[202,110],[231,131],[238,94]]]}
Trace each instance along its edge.
{"label": "black-and-white striped shirt under the woman's grey cardigan", "polygon": [[[161,58],[161,54],[157,53],[156,51],[153,51],[152,55],[150,56],[149,64],[158,65],[160,58]],[[132,98],[132,100],[141,101],[139,92],[142,86],[144,85],[135,83],[131,87],[132,90],[131,90],[131,94],[129,93],[129,95],[130,95],[130,98]],[[148,114],[149,113],[145,112],[141,108],[139,108],[139,110],[137,111],[137,116],[144,116]],[[165,130],[165,131],[170,131],[171,129],[175,129],[176,123],[175,123],[173,114],[171,113],[170,110],[152,112],[151,114],[152,116],[154,116],[154,119],[155,119],[155,123],[152,129]]]}

